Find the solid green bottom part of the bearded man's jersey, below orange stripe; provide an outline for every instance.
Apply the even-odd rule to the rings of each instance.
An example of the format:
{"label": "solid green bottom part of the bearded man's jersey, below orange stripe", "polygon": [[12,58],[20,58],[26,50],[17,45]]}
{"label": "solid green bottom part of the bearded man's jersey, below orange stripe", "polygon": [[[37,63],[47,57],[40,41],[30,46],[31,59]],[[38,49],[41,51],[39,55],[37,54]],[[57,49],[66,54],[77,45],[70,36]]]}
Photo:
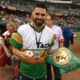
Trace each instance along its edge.
{"label": "solid green bottom part of the bearded man's jersey, below orange stripe", "polygon": [[37,79],[46,75],[46,62],[43,63],[27,63],[20,62],[20,73],[26,77]]}

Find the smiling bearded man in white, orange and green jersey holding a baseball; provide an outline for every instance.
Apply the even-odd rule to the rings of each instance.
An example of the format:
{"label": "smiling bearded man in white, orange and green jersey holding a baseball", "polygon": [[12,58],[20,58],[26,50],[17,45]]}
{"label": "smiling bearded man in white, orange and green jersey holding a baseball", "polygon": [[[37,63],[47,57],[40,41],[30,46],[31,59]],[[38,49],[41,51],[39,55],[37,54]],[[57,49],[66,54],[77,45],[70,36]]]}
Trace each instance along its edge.
{"label": "smiling bearded man in white, orange and green jersey holding a baseball", "polygon": [[54,44],[53,33],[44,24],[46,14],[45,4],[37,4],[32,11],[32,23],[20,26],[11,37],[12,51],[20,58],[18,80],[46,80],[46,57]]}

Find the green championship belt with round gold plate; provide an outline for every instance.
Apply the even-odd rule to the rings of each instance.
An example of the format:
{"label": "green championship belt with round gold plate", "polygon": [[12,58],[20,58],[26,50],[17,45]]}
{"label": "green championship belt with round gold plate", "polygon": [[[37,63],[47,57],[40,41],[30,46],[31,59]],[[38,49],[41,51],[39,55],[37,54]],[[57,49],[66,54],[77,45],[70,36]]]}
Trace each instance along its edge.
{"label": "green championship belt with round gold plate", "polygon": [[47,61],[53,66],[61,68],[62,73],[80,67],[80,59],[75,56],[71,50],[65,47],[61,47],[52,52],[52,54],[47,57]]}

